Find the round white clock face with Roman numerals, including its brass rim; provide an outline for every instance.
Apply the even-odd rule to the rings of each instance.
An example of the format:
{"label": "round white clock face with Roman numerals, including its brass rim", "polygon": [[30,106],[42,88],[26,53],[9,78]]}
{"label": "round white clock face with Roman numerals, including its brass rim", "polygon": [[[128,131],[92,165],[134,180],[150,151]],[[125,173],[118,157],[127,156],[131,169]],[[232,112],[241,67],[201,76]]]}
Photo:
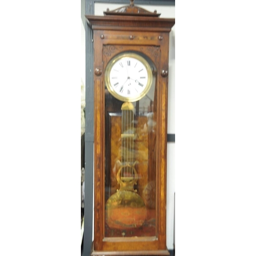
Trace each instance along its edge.
{"label": "round white clock face with Roman numerals, including its brass rim", "polygon": [[152,80],[150,65],[135,53],[122,53],[106,66],[106,87],[121,101],[133,102],[144,97],[150,90]]}

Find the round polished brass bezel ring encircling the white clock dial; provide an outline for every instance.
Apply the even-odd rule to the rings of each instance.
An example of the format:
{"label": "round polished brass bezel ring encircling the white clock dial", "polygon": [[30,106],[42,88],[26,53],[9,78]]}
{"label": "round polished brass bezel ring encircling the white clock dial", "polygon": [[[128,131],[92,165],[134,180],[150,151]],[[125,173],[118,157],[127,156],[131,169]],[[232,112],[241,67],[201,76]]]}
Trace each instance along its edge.
{"label": "round polished brass bezel ring encircling the white clock dial", "polygon": [[[110,83],[110,72],[111,72],[114,64],[116,63],[116,61],[118,61],[122,58],[135,58],[138,61],[140,61],[146,68],[148,80],[147,80],[144,90],[137,96],[132,96],[132,97],[121,96],[115,92],[115,90],[113,89],[113,87]],[[152,86],[152,81],[153,81],[153,73],[152,73],[150,64],[147,62],[147,60],[145,58],[143,58],[141,55],[139,55],[137,53],[124,52],[124,53],[118,54],[109,61],[108,65],[106,66],[106,69],[105,69],[106,88],[108,89],[108,91],[110,92],[110,94],[112,96],[114,96],[115,98],[117,98],[121,101],[124,101],[124,102],[134,102],[134,101],[137,101],[137,100],[140,100],[141,98],[143,98],[150,90],[150,88]]]}

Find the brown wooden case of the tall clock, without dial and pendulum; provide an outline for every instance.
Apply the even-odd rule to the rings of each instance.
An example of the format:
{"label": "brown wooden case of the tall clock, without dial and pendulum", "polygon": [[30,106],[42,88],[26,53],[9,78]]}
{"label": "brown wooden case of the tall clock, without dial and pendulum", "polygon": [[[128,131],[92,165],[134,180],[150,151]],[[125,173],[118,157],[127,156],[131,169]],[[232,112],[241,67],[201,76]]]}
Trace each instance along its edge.
{"label": "brown wooden case of the tall clock, without dial and pendulum", "polygon": [[[169,254],[166,248],[166,118],[169,32],[175,24],[175,19],[160,18],[159,15],[156,11],[151,13],[136,7],[132,1],[130,6],[114,11],[107,10],[104,16],[86,15],[93,30],[94,44],[94,241],[91,255]],[[118,123],[122,102],[113,97],[109,99],[111,95],[105,88],[104,70],[108,62],[122,52],[140,53],[150,61],[155,75],[152,99],[154,103],[150,108],[155,114],[157,129],[153,137],[146,142],[146,179],[154,181],[155,184],[155,226],[150,236],[146,235],[143,228],[140,228],[141,236],[136,230],[135,236],[116,235],[113,230],[108,234],[105,224],[106,200],[116,185],[110,184],[114,176],[106,171],[110,168],[113,157],[111,154],[108,155],[108,152],[112,150],[111,141],[115,136],[113,123]],[[118,143],[118,139],[115,143]],[[153,157],[150,156],[150,152],[154,152]],[[126,230],[121,233],[125,232]]]}

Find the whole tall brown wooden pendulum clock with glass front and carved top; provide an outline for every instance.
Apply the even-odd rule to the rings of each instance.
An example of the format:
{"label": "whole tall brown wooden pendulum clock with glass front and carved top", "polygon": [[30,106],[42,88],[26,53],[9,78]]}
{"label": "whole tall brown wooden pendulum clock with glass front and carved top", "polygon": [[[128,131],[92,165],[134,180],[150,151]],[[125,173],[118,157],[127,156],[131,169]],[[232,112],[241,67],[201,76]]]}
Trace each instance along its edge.
{"label": "whole tall brown wooden pendulum clock with glass front and carved top", "polygon": [[94,44],[91,255],[168,255],[169,32],[175,19],[134,5],[86,16]]}

